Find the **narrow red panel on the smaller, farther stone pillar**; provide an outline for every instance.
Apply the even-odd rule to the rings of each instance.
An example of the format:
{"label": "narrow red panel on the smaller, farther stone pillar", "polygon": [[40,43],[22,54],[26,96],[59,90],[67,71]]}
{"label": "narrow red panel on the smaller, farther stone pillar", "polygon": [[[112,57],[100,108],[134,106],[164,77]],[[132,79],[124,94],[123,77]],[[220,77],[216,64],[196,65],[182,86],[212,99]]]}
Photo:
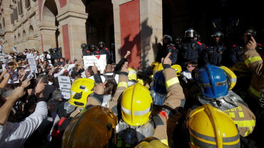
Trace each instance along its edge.
{"label": "narrow red panel on the smaller, farther stone pillar", "polygon": [[62,26],[63,50],[65,59],[70,59],[70,40],[68,24]]}

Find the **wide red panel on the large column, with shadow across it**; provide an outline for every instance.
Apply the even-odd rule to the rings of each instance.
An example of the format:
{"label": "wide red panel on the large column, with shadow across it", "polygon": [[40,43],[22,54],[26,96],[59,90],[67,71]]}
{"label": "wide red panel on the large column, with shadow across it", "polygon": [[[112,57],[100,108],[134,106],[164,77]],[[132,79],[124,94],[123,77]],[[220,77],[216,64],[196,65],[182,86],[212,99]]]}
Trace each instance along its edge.
{"label": "wide red panel on the large column, with shadow across it", "polygon": [[140,9],[139,0],[134,0],[119,6],[120,31],[121,31],[121,55],[128,56],[129,67],[141,68],[140,49]]}

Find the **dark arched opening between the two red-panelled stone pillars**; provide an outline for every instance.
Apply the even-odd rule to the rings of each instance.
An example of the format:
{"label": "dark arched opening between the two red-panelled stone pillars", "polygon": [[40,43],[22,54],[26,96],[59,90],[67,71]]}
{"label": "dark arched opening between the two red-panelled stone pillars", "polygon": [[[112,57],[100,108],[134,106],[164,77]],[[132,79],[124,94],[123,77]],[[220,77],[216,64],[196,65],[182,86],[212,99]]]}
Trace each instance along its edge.
{"label": "dark arched opening between the two red-panelled stone pillars", "polygon": [[[88,46],[91,44],[97,45],[99,41],[104,41],[107,48],[111,49],[115,43],[112,1],[87,0],[85,6],[86,13],[88,13],[86,20]],[[113,52],[115,52],[115,49],[113,49]]]}

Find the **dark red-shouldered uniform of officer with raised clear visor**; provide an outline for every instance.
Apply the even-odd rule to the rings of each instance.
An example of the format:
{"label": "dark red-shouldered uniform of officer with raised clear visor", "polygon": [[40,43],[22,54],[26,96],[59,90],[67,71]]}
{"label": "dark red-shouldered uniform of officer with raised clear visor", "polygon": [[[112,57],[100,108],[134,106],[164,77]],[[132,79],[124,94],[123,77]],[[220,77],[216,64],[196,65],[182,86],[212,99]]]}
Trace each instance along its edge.
{"label": "dark red-shouldered uniform of officer with raised clear visor", "polygon": [[198,62],[199,55],[202,53],[202,43],[196,40],[184,42],[181,45],[180,55],[183,66],[187,66],[188,62]]}

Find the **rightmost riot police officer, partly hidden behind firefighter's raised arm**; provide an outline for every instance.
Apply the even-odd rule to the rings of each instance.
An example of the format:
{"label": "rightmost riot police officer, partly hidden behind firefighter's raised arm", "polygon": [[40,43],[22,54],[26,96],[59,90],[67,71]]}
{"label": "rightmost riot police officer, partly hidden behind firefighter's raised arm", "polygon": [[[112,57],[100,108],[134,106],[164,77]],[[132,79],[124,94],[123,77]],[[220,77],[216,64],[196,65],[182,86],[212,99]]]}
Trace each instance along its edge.
{"label": "rightmost riot police officer, partly hidden behind firefighter's raised arm", "polygon": [[255,36],[256,31],[252,27],[246,27],[241,30],[241,43],[239,45],[235,45],[235,44],[232,45],[230,49],[230,53],[229,53],[229,58],[231,60],[230,66],[238,62],[244,62],[242,55],[245,51],[245,44],[247,43],[247,40],[245,39],[246,34]]}

